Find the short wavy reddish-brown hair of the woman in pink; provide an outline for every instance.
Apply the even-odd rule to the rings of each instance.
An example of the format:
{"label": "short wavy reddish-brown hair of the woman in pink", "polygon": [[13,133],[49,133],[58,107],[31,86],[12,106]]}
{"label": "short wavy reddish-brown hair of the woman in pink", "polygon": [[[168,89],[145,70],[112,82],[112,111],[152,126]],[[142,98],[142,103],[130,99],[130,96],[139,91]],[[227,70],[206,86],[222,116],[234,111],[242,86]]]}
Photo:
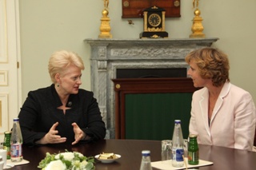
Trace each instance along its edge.
{"label": "short wavy reddish-brown hair of the woman in pink", "polygon": [[211,79],[214,86],[218,87],[230,81],[229,59],[221,50],[211,47],[195,49],[185,57],[188,64],[192,60],[198,65],[201,77]]}

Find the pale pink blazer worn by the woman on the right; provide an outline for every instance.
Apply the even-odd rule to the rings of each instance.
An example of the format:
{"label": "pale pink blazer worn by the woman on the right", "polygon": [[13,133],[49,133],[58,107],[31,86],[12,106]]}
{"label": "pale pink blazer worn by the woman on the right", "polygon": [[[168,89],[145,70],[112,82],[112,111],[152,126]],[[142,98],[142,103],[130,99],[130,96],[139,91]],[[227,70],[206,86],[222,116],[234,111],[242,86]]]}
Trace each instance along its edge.
{"label": "pale pink blazer worn by the woman on the right", "polygon": [[194,92],[190,134],[198,135],[198,144],[252,150],[256,113],[253,98],[245,90],[226,82],[208,121],[208,89]]}

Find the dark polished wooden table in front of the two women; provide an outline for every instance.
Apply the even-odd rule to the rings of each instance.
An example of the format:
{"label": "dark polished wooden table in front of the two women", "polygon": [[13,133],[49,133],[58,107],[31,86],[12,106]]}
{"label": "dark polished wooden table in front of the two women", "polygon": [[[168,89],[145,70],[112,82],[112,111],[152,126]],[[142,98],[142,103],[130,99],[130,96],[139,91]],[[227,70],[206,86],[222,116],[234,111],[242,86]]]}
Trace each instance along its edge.
{"label": "dark polished wooden table in front of the two women", "polygon": [[[142,159],[141,152],[144,149],[151,151],[151,161],[161,160],[161,141],[158,140],[100,140],[94,144],[78,144],[75,146],[65,144],[32,148],[23,146],[24,159],[29,160],[30,164],[15,166],[11,169],[36,170],[39,161],[46,156],[46,152],[64,152],[65,149],[82,152],[85,156],[95,156],[101,152],[114,152],[122,156],[111,164],[102,164],[97,161],[95,164],[97,170],[138,170]],[[200,159],[214,162],[213,165],[200,167],[199,169],[256,169],[256,152],[208,145],[199,145],[199,149]]]}

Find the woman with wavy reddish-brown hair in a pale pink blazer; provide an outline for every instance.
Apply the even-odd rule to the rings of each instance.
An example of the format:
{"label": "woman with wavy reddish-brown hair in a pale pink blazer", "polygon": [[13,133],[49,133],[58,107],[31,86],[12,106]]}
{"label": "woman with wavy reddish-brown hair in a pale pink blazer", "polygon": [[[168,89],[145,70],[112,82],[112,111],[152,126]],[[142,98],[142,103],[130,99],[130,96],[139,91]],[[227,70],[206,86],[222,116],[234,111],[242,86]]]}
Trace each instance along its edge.
{"label": "woman with wavy reddish-brown hair in a pale pink blazer", "polygon": [[186,58],[194,87],[190,134],[198,144],[252,150],[256,113],[250,93],[232,85],[229,60],[214,48],[196,49]]}

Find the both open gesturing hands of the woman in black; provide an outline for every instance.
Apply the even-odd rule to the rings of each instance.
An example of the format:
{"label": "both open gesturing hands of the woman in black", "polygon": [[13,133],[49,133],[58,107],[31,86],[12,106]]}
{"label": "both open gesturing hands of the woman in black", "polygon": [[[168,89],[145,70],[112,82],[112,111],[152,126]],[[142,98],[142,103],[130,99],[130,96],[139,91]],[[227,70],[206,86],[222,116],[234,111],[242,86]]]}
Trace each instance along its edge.
{"label": "both open gesturing hands of the woman in black", "polygon": [[[66,137],[62,137],[58,135],[58,130],[56,130],[58,126],[58,122],[56,122],[46,133],[45,136],[42,137],[41,140],[38,140],[38,144],[58,144],[66,142]],[[85,138],[85,133],[79,128],[76,123],[72,124],[74,130],[74,142],[72,144],[77,144],[79,140]]]}

